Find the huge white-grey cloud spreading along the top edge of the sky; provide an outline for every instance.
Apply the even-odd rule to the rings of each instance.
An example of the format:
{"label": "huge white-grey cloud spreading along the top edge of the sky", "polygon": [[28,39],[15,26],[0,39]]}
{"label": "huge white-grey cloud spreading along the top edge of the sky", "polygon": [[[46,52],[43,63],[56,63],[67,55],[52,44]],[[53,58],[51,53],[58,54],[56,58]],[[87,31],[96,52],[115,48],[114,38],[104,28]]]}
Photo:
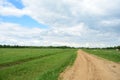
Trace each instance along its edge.
{"label": "huge white-grey cloud spreading along the top edge of the sky", "polygon": [[76,25],[89,17],[114,15],[120,9],[119,0],[22,0],[22,2],[24,9],[29,11],[29,16],[52,27]]}

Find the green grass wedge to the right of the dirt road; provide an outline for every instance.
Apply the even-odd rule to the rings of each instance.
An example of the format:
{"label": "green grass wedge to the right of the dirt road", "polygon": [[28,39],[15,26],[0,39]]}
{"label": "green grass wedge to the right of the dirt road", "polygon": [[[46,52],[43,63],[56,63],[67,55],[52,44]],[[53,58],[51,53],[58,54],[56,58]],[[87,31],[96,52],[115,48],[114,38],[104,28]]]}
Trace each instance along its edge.
{"label": "green grass wedge to the right of the dirt road", "polygon": [[114,62],[120,62],[120,51],[114,49],[84,49],[84,51]]}

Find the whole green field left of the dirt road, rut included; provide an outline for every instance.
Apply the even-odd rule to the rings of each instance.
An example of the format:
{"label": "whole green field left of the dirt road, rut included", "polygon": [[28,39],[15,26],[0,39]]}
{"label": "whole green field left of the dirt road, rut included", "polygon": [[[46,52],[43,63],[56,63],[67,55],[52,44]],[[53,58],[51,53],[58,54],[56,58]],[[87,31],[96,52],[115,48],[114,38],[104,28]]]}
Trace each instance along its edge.
{"label": "whole green field left of the dirt road, rut included", "polygon": [[0,48],[0,80],[57,80],[76,49]]}

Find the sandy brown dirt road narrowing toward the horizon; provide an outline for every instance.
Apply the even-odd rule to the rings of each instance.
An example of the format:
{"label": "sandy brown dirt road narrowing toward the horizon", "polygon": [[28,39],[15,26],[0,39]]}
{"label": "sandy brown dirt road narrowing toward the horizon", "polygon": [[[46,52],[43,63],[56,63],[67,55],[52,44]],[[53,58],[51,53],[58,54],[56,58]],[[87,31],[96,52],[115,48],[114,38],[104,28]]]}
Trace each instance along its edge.
{"label": "sandy brown dirt road narrowing toward the horizon", "polygon": [[120,64],[78,51],[72,67],[60,75],[61,80],[120,80]]}

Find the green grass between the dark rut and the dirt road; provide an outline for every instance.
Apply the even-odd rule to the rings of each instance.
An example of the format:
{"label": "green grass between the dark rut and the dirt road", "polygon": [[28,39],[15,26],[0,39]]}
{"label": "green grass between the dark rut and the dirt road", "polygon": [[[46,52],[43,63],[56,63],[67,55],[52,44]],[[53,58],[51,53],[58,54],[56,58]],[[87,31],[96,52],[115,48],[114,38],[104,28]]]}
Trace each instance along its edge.
{"label": "green grass between the dark rut and the dirt road", "polygon": [[[56,50],[47,51],[56,53]],[[57,51],[56,55],[1,69],[0,80],[57,80],[60,72],[73,63],[76,50],[60,49]]]}

